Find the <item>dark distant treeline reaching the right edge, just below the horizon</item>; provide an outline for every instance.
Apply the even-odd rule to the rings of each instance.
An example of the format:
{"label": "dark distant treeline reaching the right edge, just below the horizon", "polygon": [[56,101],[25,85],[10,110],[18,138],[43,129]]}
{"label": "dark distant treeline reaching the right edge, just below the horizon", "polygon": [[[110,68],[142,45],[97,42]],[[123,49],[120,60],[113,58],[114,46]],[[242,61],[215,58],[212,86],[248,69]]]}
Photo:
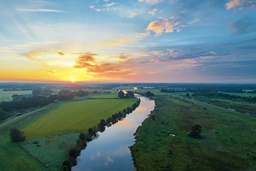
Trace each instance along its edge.
{"label": "dark distant treeline reaching the right edge, just below the horizon", "polygon": [[205,96],[208,98],[225,98],[230,100],[244,100],[247,102],[256,103],[256,96],[240,96],[230,95],[228,93],[216,93],[216,91],[201,91],[192,94],[193,97]]}

